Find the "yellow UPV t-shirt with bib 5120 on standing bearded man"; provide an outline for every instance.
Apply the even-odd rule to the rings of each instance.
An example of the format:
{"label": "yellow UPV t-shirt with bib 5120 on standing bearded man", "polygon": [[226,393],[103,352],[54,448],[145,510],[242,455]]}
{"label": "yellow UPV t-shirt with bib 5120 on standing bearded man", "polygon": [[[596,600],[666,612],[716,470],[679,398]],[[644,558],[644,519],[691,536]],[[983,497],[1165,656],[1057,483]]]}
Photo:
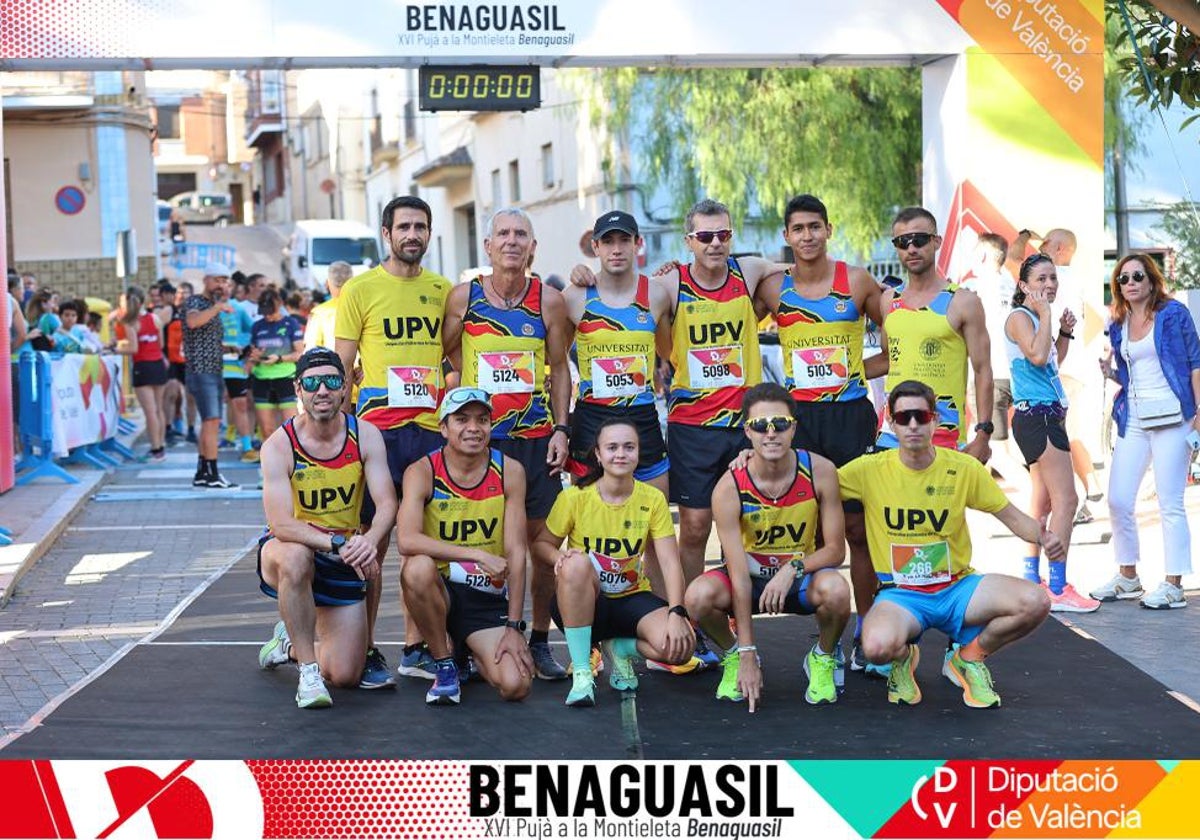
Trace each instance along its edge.
{"label": "yellow UPV t-shirt with bib 5120 on standing bearded man", "polygon": [[376,266],[346,284],[334,331],[359,342],[359,416],[379,428],[416,424],[437,431],[449,292],[449,280],[424,269],[416,277],[396,277]]}

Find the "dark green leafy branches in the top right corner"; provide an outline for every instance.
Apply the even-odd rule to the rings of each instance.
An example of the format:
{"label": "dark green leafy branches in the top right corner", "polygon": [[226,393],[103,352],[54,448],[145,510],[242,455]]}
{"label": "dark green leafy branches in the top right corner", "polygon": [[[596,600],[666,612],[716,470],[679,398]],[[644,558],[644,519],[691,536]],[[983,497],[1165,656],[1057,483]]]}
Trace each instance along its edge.
{"label": "dark green leafy branches in the top right corner", "polygon": [[[1104,5],[1109,19],[1118,26],[1114,42],[1120,50],[1116,64],[1134,101],[1170,107],[1177,100],[1190,110],[1200,110],[1200,35],[1164,14],[1158,7],[1164,4],[1105,0]],[[1196,119],[1200,113],[1189,116],[1180,127]]]}

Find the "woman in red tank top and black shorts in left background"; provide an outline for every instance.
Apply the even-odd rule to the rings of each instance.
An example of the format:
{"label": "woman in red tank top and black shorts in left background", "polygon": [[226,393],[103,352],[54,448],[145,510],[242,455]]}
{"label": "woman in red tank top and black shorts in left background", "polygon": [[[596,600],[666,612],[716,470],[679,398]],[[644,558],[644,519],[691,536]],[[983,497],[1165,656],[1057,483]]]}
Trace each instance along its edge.
{"label": "woman in red tank top and black shorts in left background", "polygon": [[143,308],[142,289],[131,286],[116,307],[114,331],[116,352],[133,359],[133,392],[145,415],[150,460],[166,461],[167,418],[163,413],[163,388],[167,361],[162,355],[162,324],[157,316]]}

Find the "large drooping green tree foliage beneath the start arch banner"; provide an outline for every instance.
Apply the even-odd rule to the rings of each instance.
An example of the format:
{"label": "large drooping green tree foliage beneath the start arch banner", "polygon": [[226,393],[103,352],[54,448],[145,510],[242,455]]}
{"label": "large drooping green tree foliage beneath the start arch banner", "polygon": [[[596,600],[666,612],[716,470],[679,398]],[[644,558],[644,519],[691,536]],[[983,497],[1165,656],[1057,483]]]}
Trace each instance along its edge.
{"label": "large drooping green tree foliage beneath the start arch banner", "polygon": [[[920,197],[920,71],[908,67],[596,71],[593,121],[637,140],[637,169],[683,211],[702,197],[781,222],[818,196],[869,253],[898,206]],[[602,104],[601,104],[602,103]]]}

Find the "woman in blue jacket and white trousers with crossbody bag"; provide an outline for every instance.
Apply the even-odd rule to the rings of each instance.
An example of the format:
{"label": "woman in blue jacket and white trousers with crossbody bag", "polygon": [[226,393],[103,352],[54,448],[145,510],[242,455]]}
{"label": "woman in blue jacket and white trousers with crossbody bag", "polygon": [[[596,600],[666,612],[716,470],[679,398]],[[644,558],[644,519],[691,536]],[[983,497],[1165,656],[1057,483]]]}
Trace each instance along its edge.
{"label": "woman in blue jacket and white trousers with crossbody bag", "polygon": [[[1192,572],[1192,533],[1183,509],[1189,443],[1200,436],[1200,338],[1188,308],[1172,300],[1162,270],[1150,257],[1127,254],[1110,281],[1111,365],[1104,374],[1121,385],[1112,402],[1117,440],[1109,470],[1112,551],[1120,569],[1092,592],[1102,601],[1141,596],[1151,610],[1188,605],[1183,575]],[[1154,464],[1154,488],[1163,522],[1166,580],[1144,594],[1138,577],[1140,546],[1134,508],[1146,468]]]}

